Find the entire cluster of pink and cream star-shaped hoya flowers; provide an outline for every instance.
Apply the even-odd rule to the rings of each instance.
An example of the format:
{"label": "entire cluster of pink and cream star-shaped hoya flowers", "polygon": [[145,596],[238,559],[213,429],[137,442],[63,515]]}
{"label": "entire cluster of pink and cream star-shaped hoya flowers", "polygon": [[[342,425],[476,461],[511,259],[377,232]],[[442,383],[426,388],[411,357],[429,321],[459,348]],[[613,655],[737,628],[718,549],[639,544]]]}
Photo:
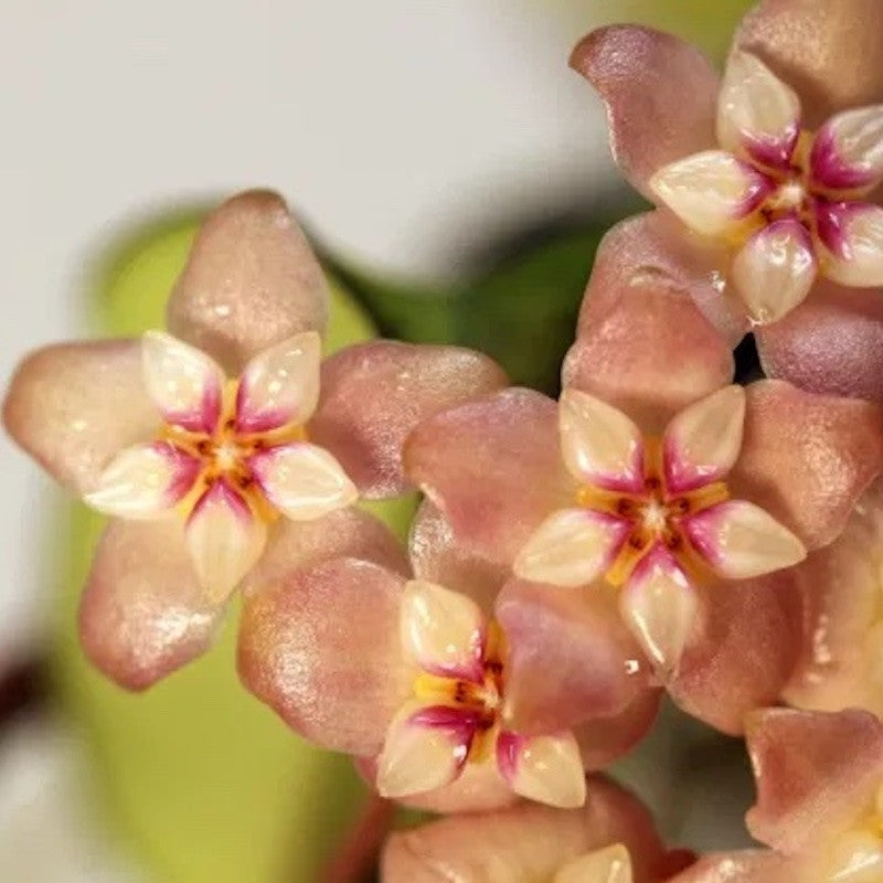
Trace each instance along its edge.
{"label": "entire cluster of pink and cream star-shaped hoya flowers", "polygon": [[[637,26],[572,63],[658,208],[603,241],[557,400],[455,347],[322,361],[321,269],[257,192],[206,220],[169,332],[25,359],[9,432],[113,517],[84,649],[149,687],[238,588],[245,687],[455,813],[390,840],[387,883],[880,883],[883,10],[764,0],[722,81]],[[403,547],[359,501],[414,490]],[[769,849],[668,851],[599,775],[664,693],[747,736]]]}

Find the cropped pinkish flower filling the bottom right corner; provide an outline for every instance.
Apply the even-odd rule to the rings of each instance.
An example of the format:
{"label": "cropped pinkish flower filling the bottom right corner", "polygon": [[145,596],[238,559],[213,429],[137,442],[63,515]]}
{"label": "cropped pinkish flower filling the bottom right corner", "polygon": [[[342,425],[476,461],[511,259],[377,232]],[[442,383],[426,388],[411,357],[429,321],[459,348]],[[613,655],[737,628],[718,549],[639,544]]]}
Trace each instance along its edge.
{"label": "cropped pinkish flower filling the bottom right corner", "polygon": [[883,724],[870,712],[770,709],[752,715],[754,837],[789,860],[794,883],[883,879]]}

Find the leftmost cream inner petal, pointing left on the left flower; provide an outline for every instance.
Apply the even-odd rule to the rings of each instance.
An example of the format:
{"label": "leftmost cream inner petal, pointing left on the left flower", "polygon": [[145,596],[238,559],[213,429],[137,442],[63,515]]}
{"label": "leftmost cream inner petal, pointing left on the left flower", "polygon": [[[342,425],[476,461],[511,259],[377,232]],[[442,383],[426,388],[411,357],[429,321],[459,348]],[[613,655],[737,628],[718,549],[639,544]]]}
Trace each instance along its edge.
{"label": "leftmost cream inner petal, pointing left on the left flower", "polygon": [[120,451],[83,499],[106,515],[152,519],[166,514],[193,487],[199,460],[163,442]]}

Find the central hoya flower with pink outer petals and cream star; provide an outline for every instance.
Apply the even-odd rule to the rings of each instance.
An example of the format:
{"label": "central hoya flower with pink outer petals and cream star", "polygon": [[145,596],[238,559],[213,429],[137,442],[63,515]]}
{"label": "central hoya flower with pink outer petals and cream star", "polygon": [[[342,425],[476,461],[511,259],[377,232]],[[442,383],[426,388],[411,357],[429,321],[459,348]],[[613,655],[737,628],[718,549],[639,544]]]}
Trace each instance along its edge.
{"label": "central hoya flower with pink outer petals and cream star", "polygon": [[572,660],[536,624],[618,604],[675,701],[740,732],[796,663],[787,568],[879,475],[883,414],[730,385],[726,344],[667,277],[630,269],[624,230],[598,252],[561,401],[506,390],[440,413],[405,464],[461,543],[514,566],[499,606],[517,655]]}

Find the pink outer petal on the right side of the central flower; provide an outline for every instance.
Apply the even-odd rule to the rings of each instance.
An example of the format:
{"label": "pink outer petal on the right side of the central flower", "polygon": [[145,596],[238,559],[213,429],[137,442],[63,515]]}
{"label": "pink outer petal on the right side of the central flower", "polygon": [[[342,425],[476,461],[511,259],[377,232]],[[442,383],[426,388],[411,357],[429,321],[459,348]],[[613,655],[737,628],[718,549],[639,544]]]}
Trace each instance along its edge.
{"label": "pink outer petal on the right side of the central flower", "polygon": [[883,467],[883,412],[781,381],[752,383],[746,396],[733,496],[760,506],[808,549],[827,545]]}

